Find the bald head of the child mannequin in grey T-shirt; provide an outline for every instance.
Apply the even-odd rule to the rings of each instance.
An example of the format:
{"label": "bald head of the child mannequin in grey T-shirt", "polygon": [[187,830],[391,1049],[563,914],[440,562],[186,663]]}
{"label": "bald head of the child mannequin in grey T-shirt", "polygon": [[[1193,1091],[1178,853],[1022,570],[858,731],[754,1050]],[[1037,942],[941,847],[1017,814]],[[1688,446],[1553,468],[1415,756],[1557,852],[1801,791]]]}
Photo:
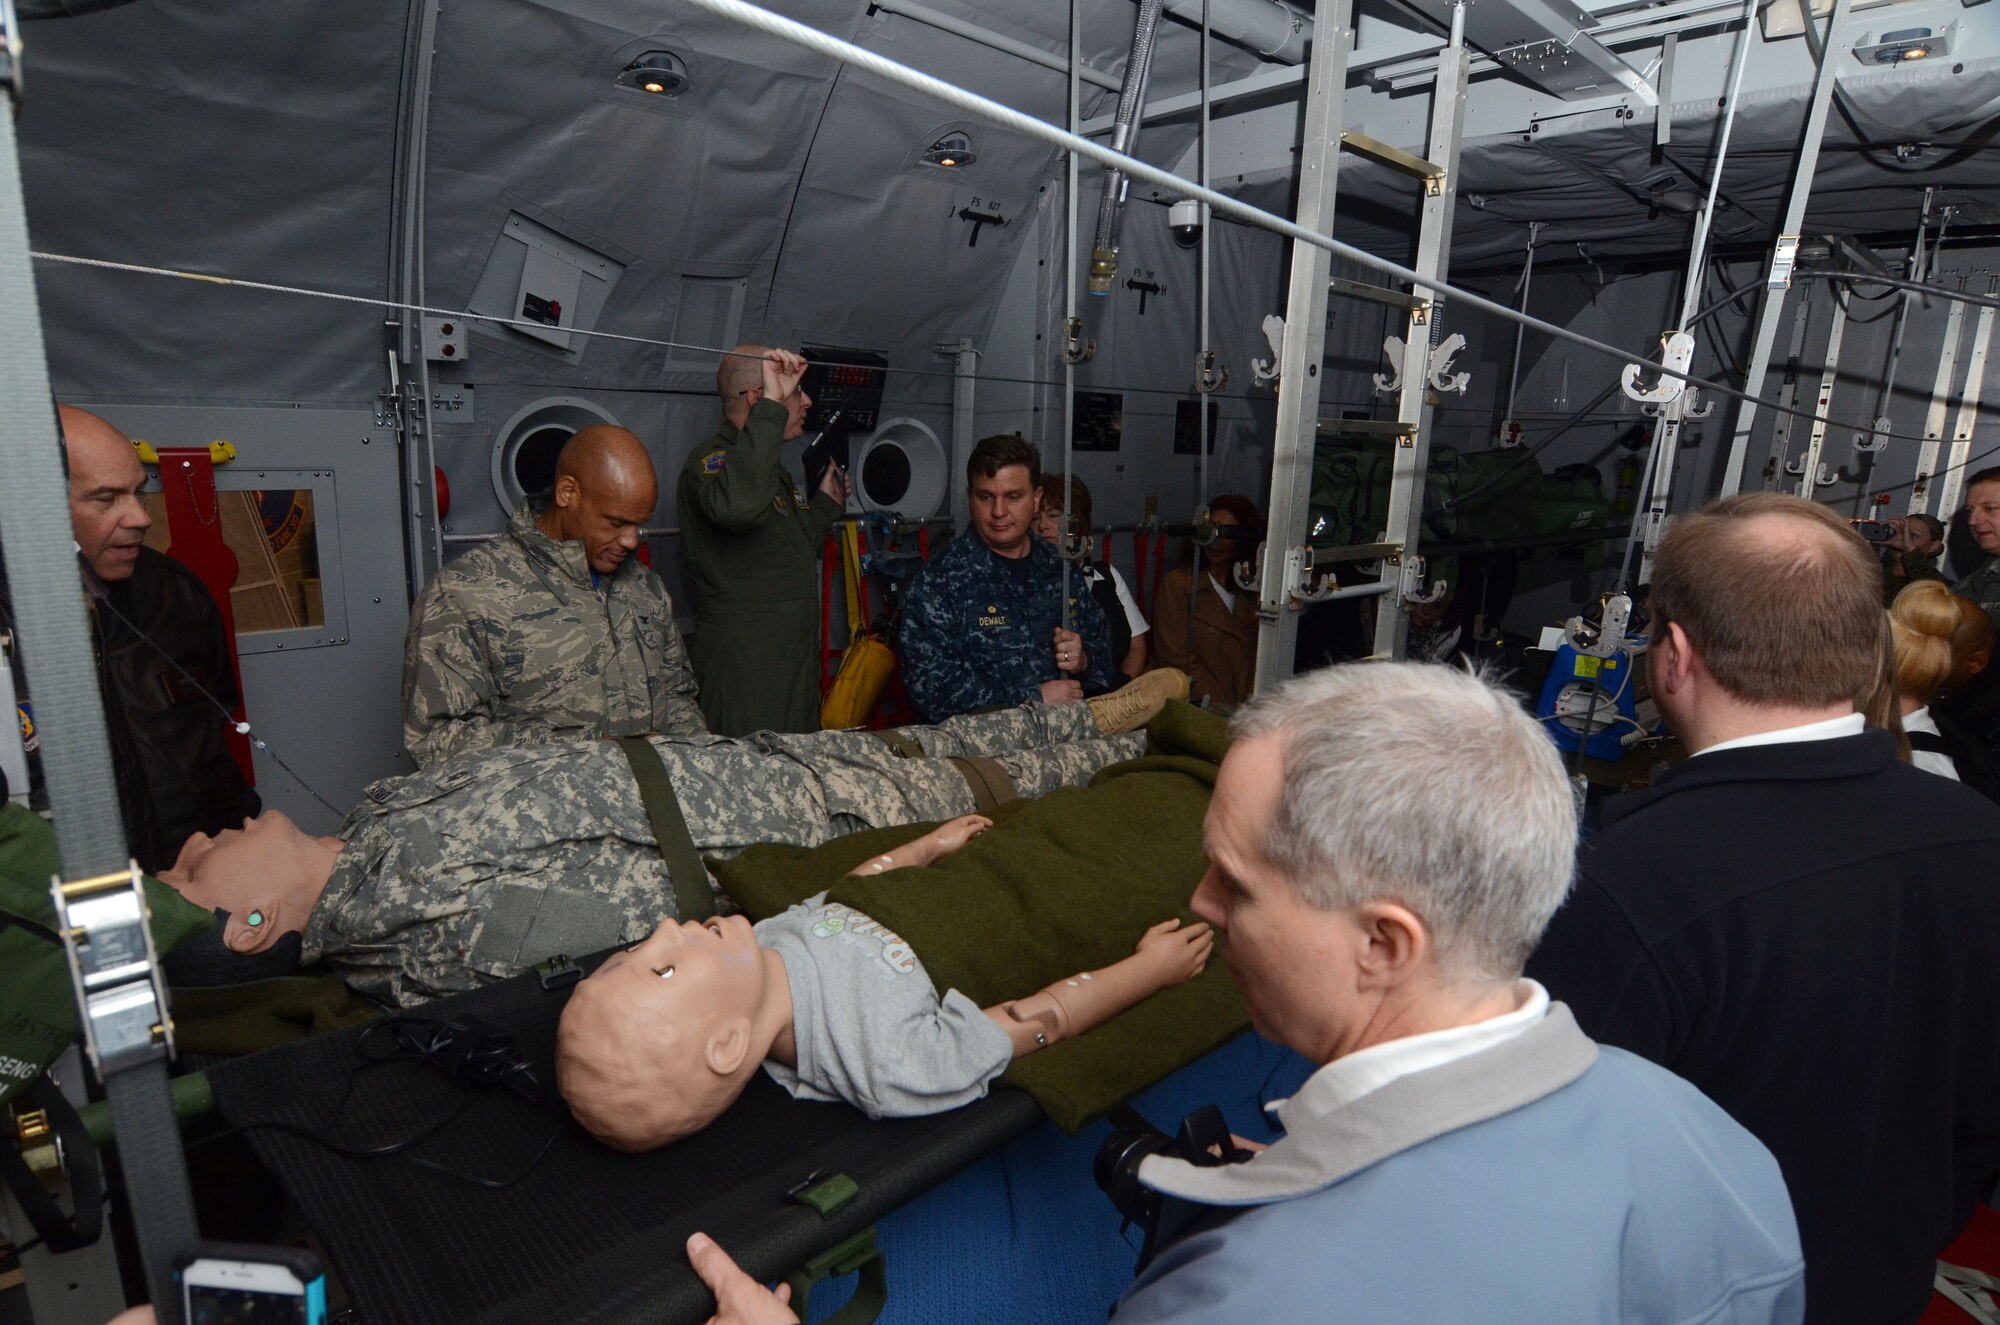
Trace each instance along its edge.
{"label": "bald head of the child mannequin in grey T-shirt", "polygon": [[750,921],[666,921],[570,995],[556,1085],[598,1141],[650,1151],[708,1127],[790,1025],[784,959]]}

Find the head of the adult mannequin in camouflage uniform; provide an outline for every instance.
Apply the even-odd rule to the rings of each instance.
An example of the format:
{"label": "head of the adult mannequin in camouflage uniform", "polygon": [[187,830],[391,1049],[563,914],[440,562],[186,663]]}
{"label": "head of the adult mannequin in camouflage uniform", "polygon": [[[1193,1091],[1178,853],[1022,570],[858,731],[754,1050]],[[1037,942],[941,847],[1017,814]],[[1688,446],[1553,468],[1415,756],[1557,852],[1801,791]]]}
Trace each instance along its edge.
{"label": "head of the adult mannequin in camouflage uniform", "polygon": [[342,847],[338,837],[312,837],[282,813],[264,811],[242,829],[196,833],[158,879],[196,907],[226,911],[222,943],[232,953],[262,953],[284,935],[304,933]]}

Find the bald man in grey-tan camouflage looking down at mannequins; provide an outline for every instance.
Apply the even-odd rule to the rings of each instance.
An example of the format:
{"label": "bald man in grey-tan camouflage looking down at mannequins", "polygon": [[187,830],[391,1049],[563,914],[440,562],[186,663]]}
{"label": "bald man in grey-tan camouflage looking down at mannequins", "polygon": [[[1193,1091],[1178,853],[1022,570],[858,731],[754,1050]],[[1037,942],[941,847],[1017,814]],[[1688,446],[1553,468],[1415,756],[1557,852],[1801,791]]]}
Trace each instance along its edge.
{"label": "bald man in grey-tan camouflage looking down at mannequins", "polygon": [[580,430],[556,486],[438,570],[410,612],[402,733],[418,767],[550,741],[706,733],[666,584],[632,556],[660,484],[626,428]]}

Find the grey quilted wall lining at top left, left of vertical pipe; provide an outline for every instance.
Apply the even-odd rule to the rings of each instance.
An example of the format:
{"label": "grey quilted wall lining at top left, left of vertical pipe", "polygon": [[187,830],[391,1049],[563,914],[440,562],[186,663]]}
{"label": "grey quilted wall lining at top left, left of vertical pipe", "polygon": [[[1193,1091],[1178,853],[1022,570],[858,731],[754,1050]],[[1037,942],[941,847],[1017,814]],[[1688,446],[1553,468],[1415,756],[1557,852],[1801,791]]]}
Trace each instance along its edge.
{"label": "grey quilted wall lining at top left, left of vertical pipe", "polygon": [[[384,290],[402,8],[248,18],[130,4],[34,24],[20,138],[36,248]],[[50,264],[36,276],[64,394],[354,400],[382,386],[374,308]]]}

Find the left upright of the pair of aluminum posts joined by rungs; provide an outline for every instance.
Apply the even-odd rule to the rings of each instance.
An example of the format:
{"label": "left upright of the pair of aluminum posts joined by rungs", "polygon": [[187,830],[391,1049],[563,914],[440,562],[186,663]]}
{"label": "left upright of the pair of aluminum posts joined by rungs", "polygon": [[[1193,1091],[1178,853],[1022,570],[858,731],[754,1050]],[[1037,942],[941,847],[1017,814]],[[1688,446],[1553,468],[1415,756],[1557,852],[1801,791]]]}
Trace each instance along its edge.
{"label": "left upright of the pair of aluminum posts joined by rungs", "polygon": [[[1318,14],[1306,76],[1306,134],[1298,152],[1298,224],[1332,234],[1340,184],[1340,106],[1346,100],[1348,52],[1354,48],[1354,0],[1334,0]],[[1328,22],[1332,20],[1332,22]],[[1272,442],[1264,568],[1258,588],[1256,691],[1292,675],[1298,610],[1290,600],[1286,552],[1304,542],[1312,498],[1312,448],[1320,434],[1320,366],[1326,360],[1326,280],[1332,254],[1292,242],[1284,300],[1284,350],[1278,354],[1278,434]],[[1206,408],[1206,406],[1202,406]]]}

